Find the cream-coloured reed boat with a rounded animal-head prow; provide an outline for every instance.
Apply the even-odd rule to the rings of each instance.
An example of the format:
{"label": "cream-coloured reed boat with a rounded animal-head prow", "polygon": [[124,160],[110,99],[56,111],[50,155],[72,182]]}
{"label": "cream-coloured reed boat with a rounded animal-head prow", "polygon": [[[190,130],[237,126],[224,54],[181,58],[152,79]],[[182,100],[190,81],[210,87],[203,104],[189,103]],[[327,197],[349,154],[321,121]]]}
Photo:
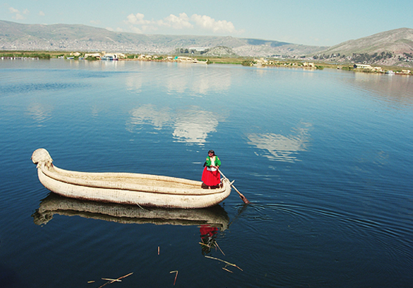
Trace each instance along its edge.
{"label": "cream-coloured reed boat with a rounded animal-head prow", "polygon": [[69,198],[165,208],[204,208],[217,205],[231,193],[222,187],[206,189],[201,181],[151,174],[76,172],[53,165],[47,150],[33,152],[39,181],[50,191]]}

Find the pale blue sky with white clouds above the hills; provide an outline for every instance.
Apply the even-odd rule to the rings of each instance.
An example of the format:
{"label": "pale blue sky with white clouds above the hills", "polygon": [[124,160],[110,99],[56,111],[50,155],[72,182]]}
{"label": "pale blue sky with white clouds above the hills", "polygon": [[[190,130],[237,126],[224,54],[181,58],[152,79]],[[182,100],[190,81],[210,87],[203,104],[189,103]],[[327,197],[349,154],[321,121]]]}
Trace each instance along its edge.
{"label": "pale blue sky with white clouds above the hills", "polygon": [[332,46],[413,28],[412,0],[0,0],[0,20]]}

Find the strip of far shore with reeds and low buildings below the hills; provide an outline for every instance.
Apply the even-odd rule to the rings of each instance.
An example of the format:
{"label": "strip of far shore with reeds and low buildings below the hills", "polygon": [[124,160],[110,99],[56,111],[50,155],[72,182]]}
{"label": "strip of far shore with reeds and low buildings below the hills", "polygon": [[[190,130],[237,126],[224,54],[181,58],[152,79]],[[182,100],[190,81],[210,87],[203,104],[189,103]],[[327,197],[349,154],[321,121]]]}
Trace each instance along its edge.
{"label": "strip of far shore with reeds and low buildings below the hills", "polygon": [[[105,52],[103,52],[104,54]],[[98,56],[100,53],[79,53],[79,52],[48,52],[48,51],[0,51],[0,59],[11,60],[41,60],[41,59],[68,59],[68,60],[86,60],[86,61],[104,61]],[[111,54],[113,55],[113,54]],[[357,63],[326,63],[316,59],[276,59],[260,58],[246,56],[205,56],[201,58],[182,56],[182,54],[118,54],[120,57],[112,57],[109,60],[117,61],[156,61],[156,62],[184,62],[184,63],[204,63],[204,64],[234,64],[257,67],[284,67],[284,68],[302,68],[308,70],[323,70],[324,68],[348,70],[354,72],[365,72],[374,74],[401,74],[412,75],[411,70],[399,66],[381,66],[373,67],[366,64]]]}

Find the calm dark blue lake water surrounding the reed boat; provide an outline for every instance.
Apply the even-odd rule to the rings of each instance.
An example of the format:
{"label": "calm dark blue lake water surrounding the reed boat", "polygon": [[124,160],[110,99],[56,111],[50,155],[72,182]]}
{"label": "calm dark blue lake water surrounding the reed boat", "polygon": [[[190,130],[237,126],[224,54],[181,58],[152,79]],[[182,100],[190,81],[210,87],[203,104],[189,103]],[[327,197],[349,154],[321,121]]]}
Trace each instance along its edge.
{"label": "calm dark blue lake water surrounding the reed boat", "polygon": [[[0,132],[2,288],[131,272],[106,287],[173,287],[173,271],[175,287],[412,287],[412,77],[1,61]],[[252,204],[233,191],[180,220],[56,197],[30,161],[40,147],[64,169],[194,180],[213,149]]]}

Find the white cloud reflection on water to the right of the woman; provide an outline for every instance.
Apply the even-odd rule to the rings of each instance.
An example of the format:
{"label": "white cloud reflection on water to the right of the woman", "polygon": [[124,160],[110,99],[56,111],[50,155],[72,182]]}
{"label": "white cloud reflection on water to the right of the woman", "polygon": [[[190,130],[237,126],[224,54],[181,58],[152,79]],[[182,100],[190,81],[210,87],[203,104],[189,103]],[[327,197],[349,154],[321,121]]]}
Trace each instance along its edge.
{"label": "white cloud reflection on water to the right of the woman", "polygon": [[300,123],[299,127],[293,130],[295,133],[288,136],[275,133],[248,134],[248,144],[255,145],[258,149],[264,150],[262,156],[270,160],[283,162],[299,161],[296,153],[306,151],[310,127],[312,127],[310,123]]}

